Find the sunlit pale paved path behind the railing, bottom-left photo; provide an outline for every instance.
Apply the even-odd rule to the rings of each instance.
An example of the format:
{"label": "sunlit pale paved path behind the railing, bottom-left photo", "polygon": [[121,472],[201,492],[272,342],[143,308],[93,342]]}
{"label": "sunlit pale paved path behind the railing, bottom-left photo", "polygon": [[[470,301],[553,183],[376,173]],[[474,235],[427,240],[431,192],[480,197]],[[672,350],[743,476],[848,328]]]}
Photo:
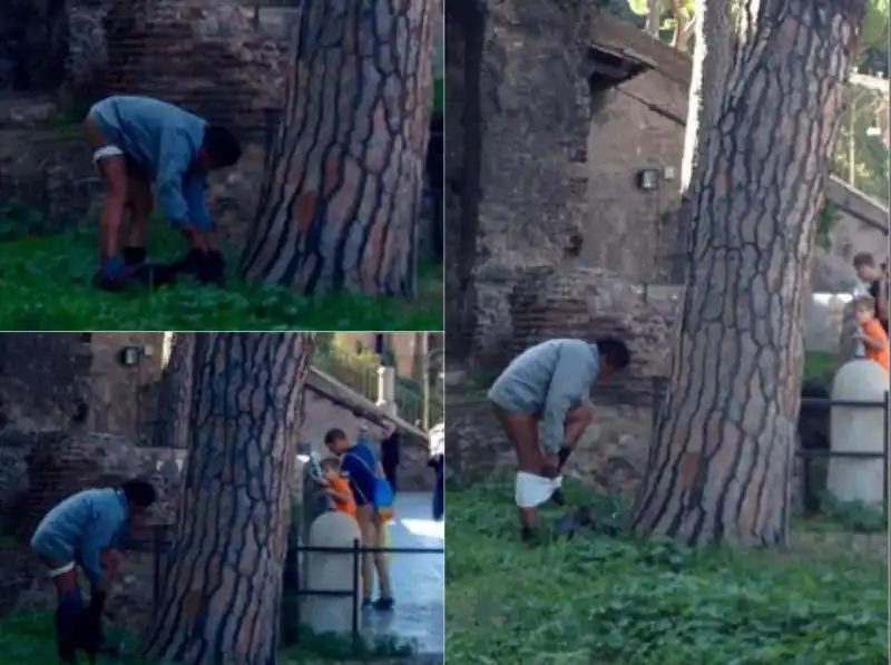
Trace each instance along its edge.
{"label": "sunlit pale paved path behind the railing, bottom-left photo", "polygon": [[[391,547],[443,547],[444,524],[433,521],[432,501],[432,492],[396,496],[396,518],[390,525]],[[443,654],[444,555],[394,554],[390,574],[396,606],[392,613],[365,613],[363,632],[369,636],[411,640],[420,654]]]}

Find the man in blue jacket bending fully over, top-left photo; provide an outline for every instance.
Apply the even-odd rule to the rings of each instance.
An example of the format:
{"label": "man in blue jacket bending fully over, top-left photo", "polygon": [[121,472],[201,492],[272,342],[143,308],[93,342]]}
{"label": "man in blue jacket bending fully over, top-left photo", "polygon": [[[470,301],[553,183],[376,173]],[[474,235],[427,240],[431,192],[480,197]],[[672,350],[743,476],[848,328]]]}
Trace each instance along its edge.
{"label": "man in blue jacket bending fully over, top-left photo", "polygon": [[[202,283],[222,284],[225,262],[210,235],[207,174],[238,162],[238,139],[228,129],[172,104],[135,96],[109,97],[96,104],[85,130],[106,186],[99,229],[101,268],[95,285],[115,291],[133,278],[150,276],[159,284],[179,273],[192,274]],[[145,261],[153,183],[167,221],[183,233],[192,250],[175,264],[150,268]],[[126,229],[125,208],[130,213]]]}

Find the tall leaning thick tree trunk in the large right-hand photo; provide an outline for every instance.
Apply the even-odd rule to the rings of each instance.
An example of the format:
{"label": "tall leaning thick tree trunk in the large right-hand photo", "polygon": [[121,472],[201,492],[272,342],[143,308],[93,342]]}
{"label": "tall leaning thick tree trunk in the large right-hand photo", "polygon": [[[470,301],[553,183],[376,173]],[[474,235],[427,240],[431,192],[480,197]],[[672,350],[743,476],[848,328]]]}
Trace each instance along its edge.
{"label": "tall leaning thick tree trunk in the large right-hand photo", "polygon": [[687,289],[639,532],[785,541],[804,287],[863,9],[741,2],[719,85],[697,81],[709,121],[699,118]]}

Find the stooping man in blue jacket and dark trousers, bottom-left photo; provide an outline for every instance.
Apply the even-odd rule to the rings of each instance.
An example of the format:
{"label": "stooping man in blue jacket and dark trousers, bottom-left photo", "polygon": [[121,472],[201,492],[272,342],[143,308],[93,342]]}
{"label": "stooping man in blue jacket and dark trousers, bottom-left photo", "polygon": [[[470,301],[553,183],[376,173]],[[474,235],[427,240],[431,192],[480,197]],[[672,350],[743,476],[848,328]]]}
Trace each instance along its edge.
{"label": "stooping man in blue jacket and dark trousers, bottom-left photo", "polygon": [[[65,499],[38,525],[31,548],[47,566],[58,593],[56,637],[62,663],[74,663],[75,649],[85,640],[98,647],[102,608],[117,568],[115,550],[127,526],[141,519],[155,499],[155,488],[139,479],[120,487],[87,489]],[[86,610],[78,566],[91,585]],[[92,635],[78,635],[85,627]]]}

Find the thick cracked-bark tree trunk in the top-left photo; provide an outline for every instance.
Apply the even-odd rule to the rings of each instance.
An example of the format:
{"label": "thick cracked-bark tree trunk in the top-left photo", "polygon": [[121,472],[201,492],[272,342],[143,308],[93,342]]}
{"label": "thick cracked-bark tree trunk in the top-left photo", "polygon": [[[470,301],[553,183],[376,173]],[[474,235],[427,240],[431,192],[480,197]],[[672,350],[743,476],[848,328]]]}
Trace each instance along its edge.
{"label": "thick cracked-bark tree trunk in the top-left photo", "polygon": [[248,277],[413,295],[440,21],[440,0],[300,3]]}

